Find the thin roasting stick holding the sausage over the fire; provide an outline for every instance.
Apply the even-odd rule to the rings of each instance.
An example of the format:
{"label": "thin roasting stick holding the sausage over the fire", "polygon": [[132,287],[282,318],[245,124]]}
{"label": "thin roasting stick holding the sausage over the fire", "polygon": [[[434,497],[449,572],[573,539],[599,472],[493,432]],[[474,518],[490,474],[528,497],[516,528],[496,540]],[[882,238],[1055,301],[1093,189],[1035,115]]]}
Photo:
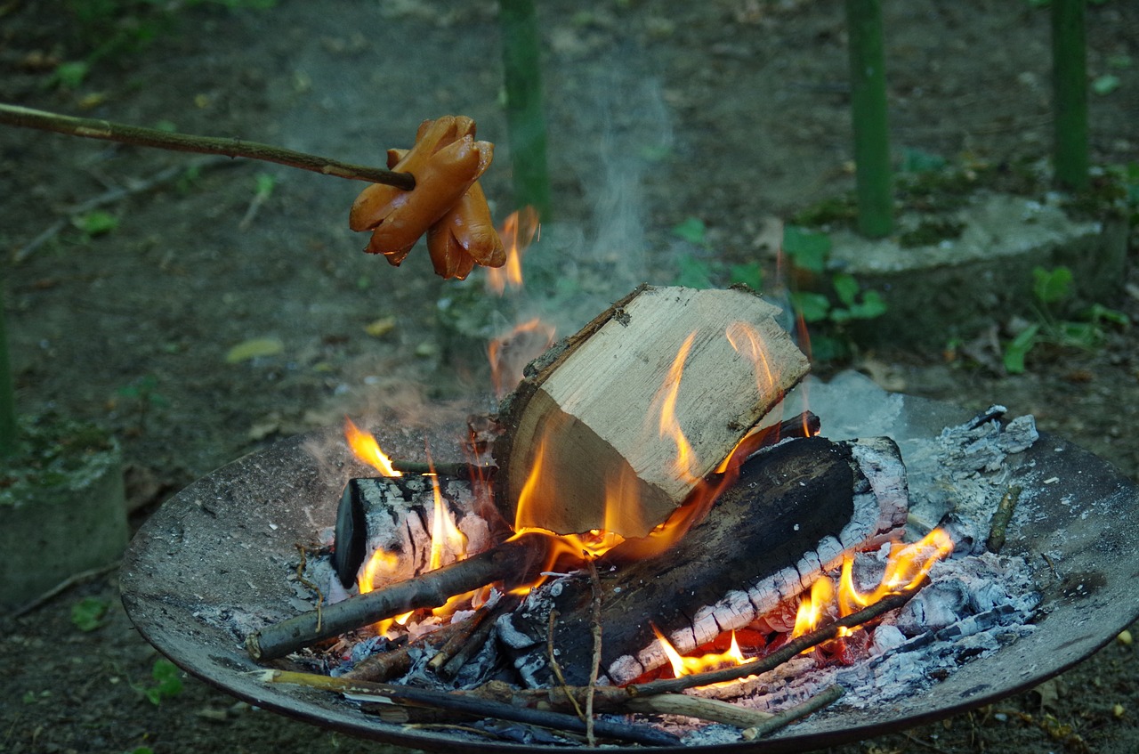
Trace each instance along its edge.
{"label": "thin roasting stick holding the sausage over the fire", "polygon": [[172,133],[157,129],[147,129],[125,123],[113,123],[96,118],[73,117],[46,110],[35,110],[17,105],[0,104],[0,123],[18,125],[25,129],[55,131],[88,139],[118,141],[142,147],[157,147],[174,151],[196,151],[207,155],[224,155],[226,157],[247,157],[265,162],[300,167],[323,175],[336,175],[357,181],[387,183],[410,191],[416,187],[411,173],[396,173],[379,167],[353,165],[328,157],[294,151],[282,147],[273,147],[255,141],[243,141],[238,138],[199,137],[189,133]]}

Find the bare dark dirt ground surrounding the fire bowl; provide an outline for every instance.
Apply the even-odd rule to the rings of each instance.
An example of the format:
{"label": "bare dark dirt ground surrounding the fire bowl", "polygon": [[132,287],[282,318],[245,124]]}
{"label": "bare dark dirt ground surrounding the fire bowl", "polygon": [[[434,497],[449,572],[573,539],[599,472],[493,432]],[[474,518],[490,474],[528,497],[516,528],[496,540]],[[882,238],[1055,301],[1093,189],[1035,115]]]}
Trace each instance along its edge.
{"label": "bare dark dirt ground surrounding the fire bowl", "polygon": [[[52,83],[55,65],[91,49],[66,10],[80,5],[96,3],[0,3],[0,100],[370,164],[407,146],[425,117],[462,113],[500,144],[484,185],[498,216],[511,208],[493,2],[172,3],[169,28],[148,46],[105,56],[66,88]],[[118,5],[130,16],[146,3]],[[540,5],[557,226],[583,241],[566,247],[579,249],[565,252],[566,279],[585,274],[587,256],[620,257],[629,280],[658,284],[686,255],[767,264],[772,218],[851,187],[837,0]],[[1049,23],[1035,5],[885,3],[895,151],[998,165],[1047,155]],[[1124,164],[1139,155],[1139,3],[1095,3],[1088,18],[1090,74],[1118,79],[1091,96],[1092,159]],[[115,431],[136,525],[194,478],[344,413],[401,408],[410,423],[410,402],[490,404],[485,368],[440,323],[481,279],[435,278],[421,248],[400,269],[361,254],[366,239],[346,214],[362,185],[248,162],[206,166],[105,205],[117,224],[100,233],[72,223],[76,205],[196,158],[7,128],[0,150],[21,408]],[[251,211],[261,174],[273,187]],[[702,246],[671,233],[687,218],[704,221]],[[595,292],[595,311],[631,287],[612,281]],[[1139,280],[1101,303],[1134,320]],[[384,318],[393,327],[369,334]],[[253,338],[277,338],[279,353],[227,361]],[[892,390],[1032,412],[1139,478],[1133,328],[1091,351],[1033,352],[1018,376],[940,350],[861,351],[852,366]],[[83,597],[110,600],[90,632],[71,621]],[[156,706],[140,691],[155,685],[156,656],[118,606],[113,573],[0,618],[0,752],[383,748],[194,679]],[[1136,653],[1113,641],[1036,691],[834,751],[1136,752]]]}

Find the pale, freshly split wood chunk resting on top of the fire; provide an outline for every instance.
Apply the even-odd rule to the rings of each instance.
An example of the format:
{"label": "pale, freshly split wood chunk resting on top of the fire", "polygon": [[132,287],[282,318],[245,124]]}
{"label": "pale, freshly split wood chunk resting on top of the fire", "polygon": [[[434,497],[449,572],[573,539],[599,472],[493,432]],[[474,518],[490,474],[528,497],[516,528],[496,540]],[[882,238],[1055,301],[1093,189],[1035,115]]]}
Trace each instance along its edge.
{"label": "pale, freshly split wood chunk resting on top of the fire", "polygon": [[641,286],[547,352],[499,415],[507,521],[626,538],[664,522],[806,374],[778,313],[745,290]]}

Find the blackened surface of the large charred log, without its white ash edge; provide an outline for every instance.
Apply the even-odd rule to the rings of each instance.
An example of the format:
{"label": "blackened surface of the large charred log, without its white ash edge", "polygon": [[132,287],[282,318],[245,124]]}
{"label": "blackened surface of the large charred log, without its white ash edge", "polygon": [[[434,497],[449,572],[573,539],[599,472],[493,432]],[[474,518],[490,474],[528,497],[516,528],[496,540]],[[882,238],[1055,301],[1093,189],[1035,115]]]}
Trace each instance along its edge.
{"label": "blackened surface of the large charred log, without its white ash edge", "polygon": [[[738,482],[723,492],[705,519],[664,555],[603,574],[601,624],[605,630],[601,667],[609,671],[622,656],[655,642],[652,625],[665,636],[693,626],[702,608],[731,590],[746,589],[767,574],[793,566],[827,536],[837,538],[854,511],[855,473],[851,451],[821,437],[796,440],[760,453],[740,468]],[[620,557],[621,548],[612,551]],[[588,579],[566,579],[550,597],[559,618],[555,646],[570,685],[588,681],[592,654],[589,630]],[[531,637],[544,646],[544,613],[532,597],[503,618],[500,636],[513,637],[515,650],[528,655],[528,682],[547,680],[540,653],[524,647]],[[538,620],[527,621],[541,615]],[[501,623],[501,621],[500,621]],[[511,632],[513,630],[513,632]],[[508,642],[509,644],[509,642]],[[685,650],[681,647],[681,650]],[[526,661],[516,663],[524,677]],[[613,679],[618,682],[629,679]]]}

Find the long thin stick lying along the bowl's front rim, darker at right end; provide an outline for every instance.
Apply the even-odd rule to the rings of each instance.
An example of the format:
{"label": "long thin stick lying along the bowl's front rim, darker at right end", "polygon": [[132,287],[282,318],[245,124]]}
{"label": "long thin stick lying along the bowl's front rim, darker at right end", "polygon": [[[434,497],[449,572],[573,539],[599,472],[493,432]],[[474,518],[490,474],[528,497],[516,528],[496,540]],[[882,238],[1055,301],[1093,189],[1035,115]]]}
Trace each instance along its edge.
{"label": "long thin stick lying along the bowl's front rim, darker at right end", "polygon": [[[505,702],[494,702],[464,694],[448,694],[432,689],[421,689],[410,686],[393,686],[391,683],[374,683],[368,681],[351,681],[316,673],[296,673],[290,671],[269,670],[261,673],[261,680],[267,683],[296,683],[313,688],[336,691],[338,694],[352,694],[360,696],[384,697],[404,702],[425,704],[442,710],[451,710],[465,714],[474,714],[481,718],[497,718],[499,720],[511,720],[543,728],[556,730],[568,730],[572,732],[584,732],[585,723],[574,716],[560,712],[543,712],[528,707],[515,706]],[[605,738],[644,744],[647,746],[675,746],[680,739],[664,731],[648,728],[646,726],[633,726],[625,722],[608,722],[599,720],[595,722],[597,732]]]}

